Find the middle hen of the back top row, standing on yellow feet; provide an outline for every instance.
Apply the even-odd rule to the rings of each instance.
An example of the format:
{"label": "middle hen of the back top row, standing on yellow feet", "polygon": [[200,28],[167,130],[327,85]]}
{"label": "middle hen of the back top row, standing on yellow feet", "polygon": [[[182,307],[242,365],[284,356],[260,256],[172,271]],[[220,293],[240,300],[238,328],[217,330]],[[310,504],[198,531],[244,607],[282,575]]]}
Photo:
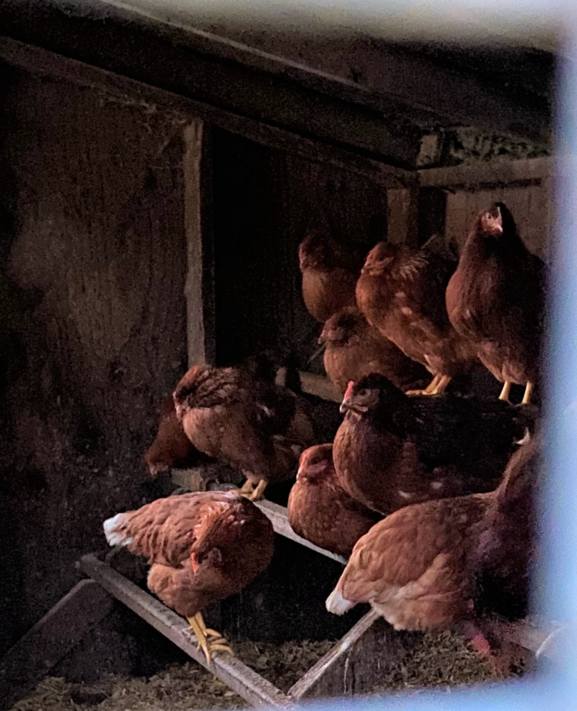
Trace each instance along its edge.
{"label": "middle hen of the back top row, standing on yellow feet", "polygon": [[456,266],[427,245],[412,250],[379,242],[357,282],[357,304],[367,321],[433,374],[425,395],[443,392],[477,360],[447,316],[445,292]]}

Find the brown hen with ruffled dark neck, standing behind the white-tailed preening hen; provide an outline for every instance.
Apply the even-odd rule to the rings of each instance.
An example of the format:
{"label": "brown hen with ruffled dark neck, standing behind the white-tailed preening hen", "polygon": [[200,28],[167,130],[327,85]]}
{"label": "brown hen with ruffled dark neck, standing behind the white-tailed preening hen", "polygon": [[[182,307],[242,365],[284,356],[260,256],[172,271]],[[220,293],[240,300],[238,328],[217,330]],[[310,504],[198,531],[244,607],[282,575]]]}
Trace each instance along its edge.
{"label": "brown hen with ruffled dark neck, standing behind the white-tailed preening hen", "polygon": [[313,444],[306,402],[237,368],[194,365],[173,397],[190,442],[239,467],[247,476],[241,491],[253,501],[267,484],[290,479],[301,451]]}

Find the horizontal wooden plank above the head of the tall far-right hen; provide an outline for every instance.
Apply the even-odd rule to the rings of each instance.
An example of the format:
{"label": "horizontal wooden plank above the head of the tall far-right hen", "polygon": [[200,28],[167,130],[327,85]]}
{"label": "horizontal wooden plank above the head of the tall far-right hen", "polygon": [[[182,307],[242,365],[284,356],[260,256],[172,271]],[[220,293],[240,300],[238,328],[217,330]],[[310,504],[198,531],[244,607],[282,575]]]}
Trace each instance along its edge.
{"label": "horizontal wooden plank above the head of the tall far-right hen", "polygon": [[421,188],[472,190],[486,186],[511,186],[512,183],[541,181],[551,178],[555,172],[554,159],[546,157],[425,169],[419,171],[419,179]]}

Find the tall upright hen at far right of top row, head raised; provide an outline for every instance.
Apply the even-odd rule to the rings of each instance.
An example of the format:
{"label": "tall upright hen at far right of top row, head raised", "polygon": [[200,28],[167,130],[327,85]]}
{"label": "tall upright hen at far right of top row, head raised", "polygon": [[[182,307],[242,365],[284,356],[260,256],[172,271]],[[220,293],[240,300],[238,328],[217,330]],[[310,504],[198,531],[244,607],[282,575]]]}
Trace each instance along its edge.
{"label": "tall upright hen at far right of top row, head raised", "polygon": [[480,213],[446,292],[451,324],[504,383],[531,399],[544,333],[545,264],[523,244],[503,203]]}

